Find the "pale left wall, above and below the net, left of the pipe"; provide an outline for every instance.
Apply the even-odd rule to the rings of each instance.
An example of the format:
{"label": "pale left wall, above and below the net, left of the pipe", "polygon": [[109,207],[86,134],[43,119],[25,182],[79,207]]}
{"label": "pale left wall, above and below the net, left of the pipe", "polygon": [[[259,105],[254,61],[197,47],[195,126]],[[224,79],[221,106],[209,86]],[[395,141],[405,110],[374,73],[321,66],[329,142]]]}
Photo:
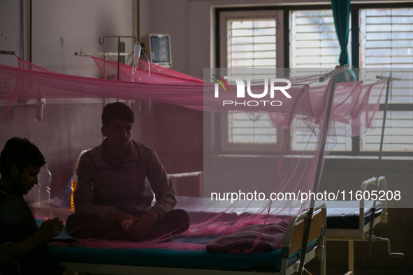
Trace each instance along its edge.
{"label": "pale left wall, above and below the net, left of the pipe", "polygon": [[[20,3],[23,17],[20,17]],[[36,0],[31,3],[31,59],[34,64],[58,73],[99,77],[93,59],[74,53],[80,50],[117,52],[116,38],[100,45],[99,37],[136,36],[136,0]],[[0,0],[0,50],[15,51],[18,57],[24,56],[28,61],[29,10],[28,0]],[[126,51],[131,51],[132,40],[124,41],[128,46]],[[0,64],[17,66],[17,59],[0,54]],[[6,109],[0,107],[0,117]],[[61,190],[73,174],[75,154],[101,143],[101,110],[102,103],[53,105],[47,101],[43,121],[35,122],[35,106],[15,106],[0,119],[0,148],[13,135],[34,142],[49,163],[52,196],[61,198]]]}

